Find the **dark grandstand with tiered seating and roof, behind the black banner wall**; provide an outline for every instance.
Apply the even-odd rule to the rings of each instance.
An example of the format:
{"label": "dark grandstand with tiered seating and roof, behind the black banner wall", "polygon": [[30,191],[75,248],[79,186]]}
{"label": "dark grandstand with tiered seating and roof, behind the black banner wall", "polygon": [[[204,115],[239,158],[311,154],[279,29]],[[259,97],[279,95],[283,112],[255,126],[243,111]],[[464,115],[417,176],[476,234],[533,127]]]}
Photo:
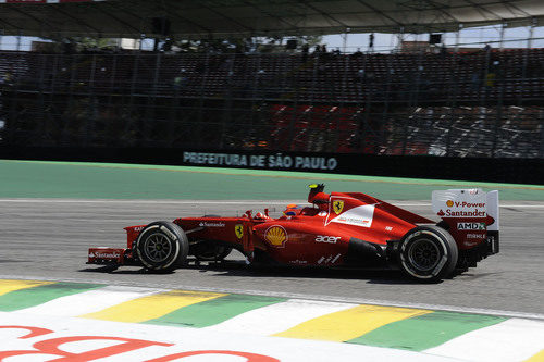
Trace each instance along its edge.
{"label": "dark grandstand with tiered seating and roof, behind the black banner wall", "polygon": [[[534,27],[544,16],[531,1],[481,1],[477,10],[463,0],[384,3],[342,1],[343,11],[338,1],[283,1],[274,9],[260,1],[0,7],[4,34],[134,39],[198,38],[203,29],[214,38],[441,33]],[[25,21],[14,27],[10,16]],[[543,159],[544,49],[441,49],[2,50],[0,143]]]}

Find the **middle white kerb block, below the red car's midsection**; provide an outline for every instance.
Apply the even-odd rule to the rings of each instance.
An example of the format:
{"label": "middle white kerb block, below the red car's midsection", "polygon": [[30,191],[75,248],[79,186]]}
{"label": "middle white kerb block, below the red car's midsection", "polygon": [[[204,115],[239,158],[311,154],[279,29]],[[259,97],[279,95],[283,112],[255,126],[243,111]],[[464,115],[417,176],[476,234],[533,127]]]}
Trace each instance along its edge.
{"label": "middle white kerb block, below the red car's midsection", "polygon": [[269,336],[330,313],[354,308],[353,303],[290,299],[259,308],[202,329]]}

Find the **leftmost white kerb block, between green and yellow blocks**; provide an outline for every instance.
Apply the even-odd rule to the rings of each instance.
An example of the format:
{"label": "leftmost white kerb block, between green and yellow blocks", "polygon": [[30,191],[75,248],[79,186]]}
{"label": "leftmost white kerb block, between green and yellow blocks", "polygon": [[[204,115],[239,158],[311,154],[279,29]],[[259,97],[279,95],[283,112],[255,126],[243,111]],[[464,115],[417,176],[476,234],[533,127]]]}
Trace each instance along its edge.
{"label": "leftmost white kerb block, between green and yellow blocks", "polygon": [[154,288],[108,286],[97,290],[89,290],[77,295],[57,298],[44,304],[18,310],[15,313],[76,316],[98,312],[107,308],[160,291],[161,290]]}

